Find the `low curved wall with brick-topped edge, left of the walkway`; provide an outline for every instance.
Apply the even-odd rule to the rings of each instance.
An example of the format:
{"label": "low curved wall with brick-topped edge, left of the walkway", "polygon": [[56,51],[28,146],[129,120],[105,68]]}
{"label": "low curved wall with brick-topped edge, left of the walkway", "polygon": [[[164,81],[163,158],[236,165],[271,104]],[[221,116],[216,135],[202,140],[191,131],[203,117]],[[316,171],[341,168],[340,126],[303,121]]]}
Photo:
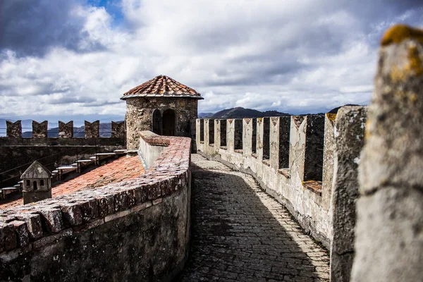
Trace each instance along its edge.
{"label": "low curved wall with brick-topped edge, left of the walkway", "polygon": [[1,281],[169,281],[190,228],[190,138],[140,178],[0,211]]}

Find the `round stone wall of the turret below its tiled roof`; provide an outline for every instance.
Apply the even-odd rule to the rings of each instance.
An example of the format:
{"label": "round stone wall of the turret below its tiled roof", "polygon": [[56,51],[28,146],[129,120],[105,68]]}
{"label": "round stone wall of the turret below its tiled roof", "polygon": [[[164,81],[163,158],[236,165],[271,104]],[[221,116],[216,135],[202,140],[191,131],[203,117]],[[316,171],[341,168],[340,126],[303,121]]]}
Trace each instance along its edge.
{"label": "round stone wall of the turret below its tiled roof", "polygon": [[135,97],[126,101],[126,132],[128,149],[137,149],[143,130],[152,131],[153,111],[163,114],[172,109],[176,114],[176,135],[190,137],[190,120],[197,118],[197,99],[183,97]]}

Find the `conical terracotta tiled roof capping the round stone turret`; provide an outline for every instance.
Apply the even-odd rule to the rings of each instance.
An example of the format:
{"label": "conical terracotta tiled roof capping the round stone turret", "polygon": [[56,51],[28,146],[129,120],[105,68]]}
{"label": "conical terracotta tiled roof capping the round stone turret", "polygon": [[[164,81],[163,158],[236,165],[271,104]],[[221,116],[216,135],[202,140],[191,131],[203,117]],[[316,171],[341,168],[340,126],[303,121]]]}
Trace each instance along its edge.
{"label": "conical terracotta tiled roof capping the round stone turret", "polygon": [[166,75],[159,75],[142,83],[142,85],[134,87],[123,94],[121,99],[124,100],[131,97],[190,97],[203,99],[197,91]]}

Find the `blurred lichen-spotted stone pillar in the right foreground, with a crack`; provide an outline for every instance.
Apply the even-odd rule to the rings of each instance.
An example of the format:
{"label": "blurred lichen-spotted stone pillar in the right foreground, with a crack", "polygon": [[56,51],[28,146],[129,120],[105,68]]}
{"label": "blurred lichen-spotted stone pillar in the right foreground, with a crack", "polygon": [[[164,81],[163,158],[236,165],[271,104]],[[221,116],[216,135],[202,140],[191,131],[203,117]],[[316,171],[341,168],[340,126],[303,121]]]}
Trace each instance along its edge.
{"label": "blurred lichen-spotted stone pillar in the right foreground, with a crack", "polygon": [[423,30],[382,39],[360,163],[353,281],[423,277]]}

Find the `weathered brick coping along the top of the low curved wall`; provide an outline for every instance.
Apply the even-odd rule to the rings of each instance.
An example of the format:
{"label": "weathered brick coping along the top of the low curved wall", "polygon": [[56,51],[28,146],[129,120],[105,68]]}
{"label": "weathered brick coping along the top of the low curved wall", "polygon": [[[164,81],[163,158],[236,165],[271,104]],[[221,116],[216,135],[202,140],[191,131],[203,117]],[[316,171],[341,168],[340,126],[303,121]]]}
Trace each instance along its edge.
{"label": "weathered brick coping along the top of the low curved wall", "polygon": [[145,131],[140,135],[151,145],[167,146],[148,171],[139,178],[102,188],[1,210],[0,252],[42,247],[64,233],[86,231],[160,204],[164,197],[186,187],[190,178],[190,138]]}

